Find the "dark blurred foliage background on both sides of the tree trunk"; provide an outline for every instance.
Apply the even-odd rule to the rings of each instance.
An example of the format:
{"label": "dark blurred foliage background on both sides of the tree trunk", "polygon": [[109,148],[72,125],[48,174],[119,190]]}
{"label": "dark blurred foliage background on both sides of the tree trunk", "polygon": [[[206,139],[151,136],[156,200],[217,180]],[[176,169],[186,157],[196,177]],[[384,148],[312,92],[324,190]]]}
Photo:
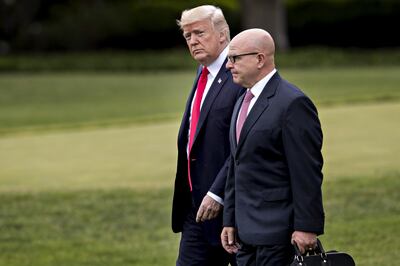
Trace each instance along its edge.
{"label": "dark blurred foliage background on both sides of the tree trunk", "polygon": [[[175,20],[182,10],[205,3],[217,5],[224,11],[234,36],[247,15],[242,12],[245,2],[0,0],[0,53],[180,48],[185,43]],[[400,1],[275,2],[284,6],[290,48],[371,49],[400,44],[395,29]]]}

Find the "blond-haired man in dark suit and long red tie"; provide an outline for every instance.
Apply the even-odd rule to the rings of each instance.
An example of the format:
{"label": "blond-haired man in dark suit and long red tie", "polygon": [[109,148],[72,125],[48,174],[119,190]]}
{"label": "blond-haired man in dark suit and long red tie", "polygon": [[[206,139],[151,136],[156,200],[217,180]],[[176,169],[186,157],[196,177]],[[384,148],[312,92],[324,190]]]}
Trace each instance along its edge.
{"label": "blond-haired man in dark suit and long red tie", "polygon": [[221,9],[200,6],[178,25],[200,63],[178,134],[172,229],[182,232],[176,265],[235,264],[221,245],[222,208],[230,153],[229,125],[244,89],[225,67],[229,27]]}

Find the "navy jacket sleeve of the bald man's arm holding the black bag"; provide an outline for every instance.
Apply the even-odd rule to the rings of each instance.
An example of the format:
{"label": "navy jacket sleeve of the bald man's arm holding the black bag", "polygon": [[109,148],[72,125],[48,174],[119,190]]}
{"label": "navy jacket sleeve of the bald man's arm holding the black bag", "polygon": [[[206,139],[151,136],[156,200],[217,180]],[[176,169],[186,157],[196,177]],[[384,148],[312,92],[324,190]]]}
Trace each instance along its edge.
{"label": "navy jacket sleeve of the bald man's arm holding the black bag", "polygon": [[323,234],[322,130],[317,109],[306,96],[287,109],[283,145],[293,193],[294,230]]}

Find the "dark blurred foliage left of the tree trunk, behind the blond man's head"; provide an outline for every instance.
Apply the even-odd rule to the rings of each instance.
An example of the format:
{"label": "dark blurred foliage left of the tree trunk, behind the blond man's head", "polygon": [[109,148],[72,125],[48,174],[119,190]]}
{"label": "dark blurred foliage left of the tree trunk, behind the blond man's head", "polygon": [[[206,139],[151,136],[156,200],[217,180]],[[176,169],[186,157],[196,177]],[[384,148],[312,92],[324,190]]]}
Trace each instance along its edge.
{"label": "dark blurred foliage left of the tree trunk, behind the blond man's head", "polygon": [[[235,2],[215,0],[227,18]],[[0,44],[8,51],[160,49],[182,45],[176,19],[203,0],[0,1]],[[238,21],[238,19],[230,19]],[[1,42],[1,40],[3,40]],[[0,45],[0,53],[2,52]]]}

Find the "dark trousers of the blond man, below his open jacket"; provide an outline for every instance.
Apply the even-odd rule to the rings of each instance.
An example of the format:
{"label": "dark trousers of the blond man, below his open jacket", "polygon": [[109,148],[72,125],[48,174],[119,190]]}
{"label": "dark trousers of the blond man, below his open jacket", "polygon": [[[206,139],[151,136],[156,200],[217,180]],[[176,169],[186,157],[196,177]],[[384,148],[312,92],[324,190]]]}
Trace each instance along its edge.
{"label": "dark trousers of the blond man, below his open jacket", "polygon": [[236,266],[235,255],[230,255],[221,243],[210,243],[205,237],[205,227],[196,222],[196,209],[183,224],[179,255],[176,266]]}

